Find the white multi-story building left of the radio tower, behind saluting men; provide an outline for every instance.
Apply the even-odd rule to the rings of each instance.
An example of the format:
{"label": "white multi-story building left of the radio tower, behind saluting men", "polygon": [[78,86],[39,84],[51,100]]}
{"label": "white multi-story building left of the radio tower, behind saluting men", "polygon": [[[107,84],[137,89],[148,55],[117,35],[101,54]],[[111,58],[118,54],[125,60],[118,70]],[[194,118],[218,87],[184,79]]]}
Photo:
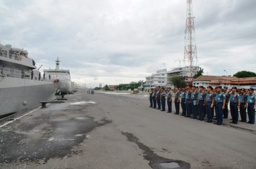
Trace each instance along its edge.
{"label": "white multi-story building left of the radio tower, behind saluting men", "polygon": [[167,69],[157,70],[151,76],[146,76],[145,89],[154,88],[156,86],[166,87],[167,85]]}

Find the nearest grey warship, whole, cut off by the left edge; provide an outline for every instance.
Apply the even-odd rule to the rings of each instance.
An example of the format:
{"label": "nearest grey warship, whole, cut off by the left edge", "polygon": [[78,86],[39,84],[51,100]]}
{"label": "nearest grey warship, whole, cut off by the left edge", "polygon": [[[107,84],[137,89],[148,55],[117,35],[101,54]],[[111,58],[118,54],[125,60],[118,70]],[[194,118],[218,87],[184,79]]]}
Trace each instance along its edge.
{"label": "nearest grey warship, whole, cut off by the left edge", "polygon": [[28,51],[0,44],[0,115],[55,99],[58,82],[43,80]]}

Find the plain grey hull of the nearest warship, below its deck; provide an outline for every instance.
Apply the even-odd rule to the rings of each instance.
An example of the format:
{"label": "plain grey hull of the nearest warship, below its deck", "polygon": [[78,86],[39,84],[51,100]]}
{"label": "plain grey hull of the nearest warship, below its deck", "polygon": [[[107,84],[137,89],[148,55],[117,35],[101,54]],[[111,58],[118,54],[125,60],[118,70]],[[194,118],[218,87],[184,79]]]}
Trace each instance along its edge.
{"label": "plain grey hull of the nearest warship, below its deck", "polygon": [[[0,76],[0,115],[15,113],[55,99],[59,82]],[[24,104],[26,101],[26,105]]]}

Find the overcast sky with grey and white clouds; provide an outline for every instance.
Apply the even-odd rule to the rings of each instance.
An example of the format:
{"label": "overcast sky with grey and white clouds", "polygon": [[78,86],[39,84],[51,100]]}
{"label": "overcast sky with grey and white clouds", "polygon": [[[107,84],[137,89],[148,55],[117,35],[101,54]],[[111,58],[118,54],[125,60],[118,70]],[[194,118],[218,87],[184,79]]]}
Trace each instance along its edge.
{"label": "overcast sky with grey and white clouds", "polygon": [[[193,0],[204,75],[256,72],[255,9],[256,0]],[[0,0],[0,16],[3,45],[26,49],[41,71],[59,56],[88,87],[183,64],[186,0]]]}

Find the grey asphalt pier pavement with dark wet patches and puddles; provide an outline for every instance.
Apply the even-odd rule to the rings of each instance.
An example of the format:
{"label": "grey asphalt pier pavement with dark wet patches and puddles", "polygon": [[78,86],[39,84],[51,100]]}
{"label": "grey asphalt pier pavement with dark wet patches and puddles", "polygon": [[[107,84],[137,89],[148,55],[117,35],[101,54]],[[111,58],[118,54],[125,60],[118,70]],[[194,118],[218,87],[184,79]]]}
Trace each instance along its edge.
{"label": "grey asphalt pier pavement with dark wet patches and puddles", "polygon": [[143,97],[81,90],[65,98],[0,120],[0,168],[256,168],[254,128],[160,112]]}

